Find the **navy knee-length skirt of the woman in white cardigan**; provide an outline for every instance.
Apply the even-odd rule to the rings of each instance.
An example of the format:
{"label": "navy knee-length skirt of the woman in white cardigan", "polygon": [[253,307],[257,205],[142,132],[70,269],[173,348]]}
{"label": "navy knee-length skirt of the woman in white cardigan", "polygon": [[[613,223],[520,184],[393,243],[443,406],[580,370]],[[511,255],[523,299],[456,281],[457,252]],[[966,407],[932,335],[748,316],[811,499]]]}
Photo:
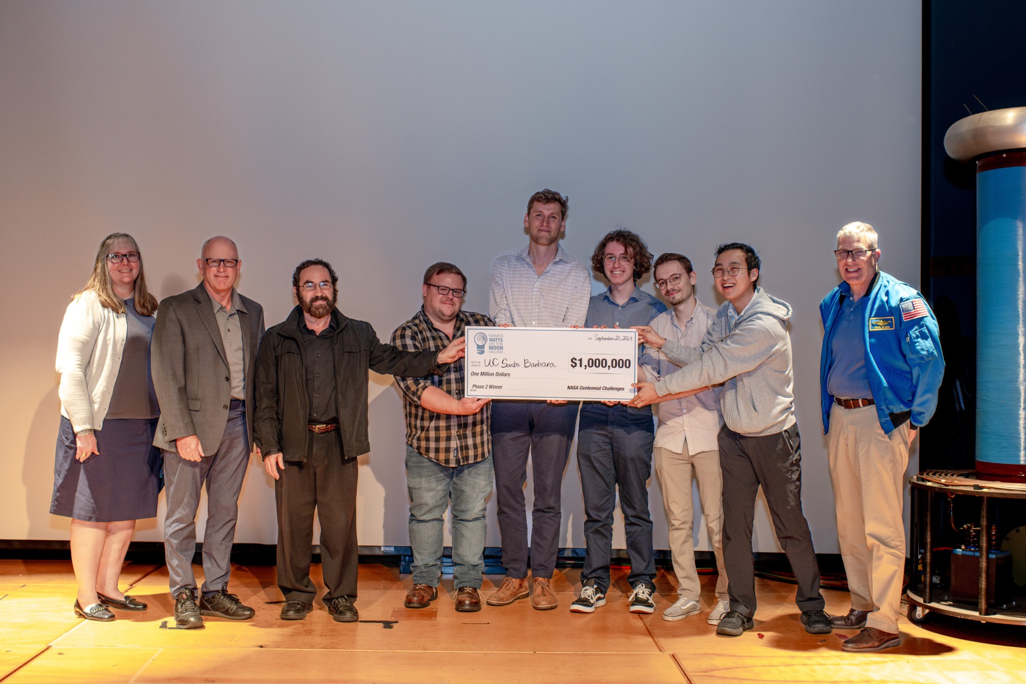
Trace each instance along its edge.
{"label": "navy knee-length skirt of the woman in white cardigan", "polygon": [[108,419],[93,433],[96,448],[75,458],[75,431],[61,416],[50,513],[90,522],[141,520],[157,515],[160,449],[153,446],[157,419]]}

